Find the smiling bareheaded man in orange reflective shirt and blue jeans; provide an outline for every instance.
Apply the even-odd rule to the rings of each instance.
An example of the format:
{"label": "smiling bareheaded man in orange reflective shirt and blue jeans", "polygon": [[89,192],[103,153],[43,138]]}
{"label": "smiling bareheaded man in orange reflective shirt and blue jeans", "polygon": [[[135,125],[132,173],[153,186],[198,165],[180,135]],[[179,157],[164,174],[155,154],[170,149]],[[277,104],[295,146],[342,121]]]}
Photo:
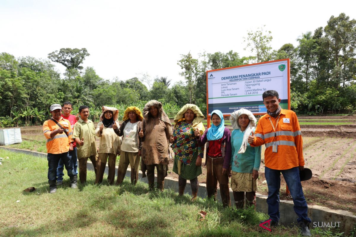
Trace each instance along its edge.
{"label": "smiling bareheaded man in orange reflective shirt and blue jeans", "polygon": [[265,177],[268,185],[268,215],[270,226],[277,226],[279,221],[279,188],[281,173],[293,197],[294,211],[302,236],[311,236],[308,217],[308,205],[305,201],[299,171],[304,169],[303,140],[297,115],[279,106],[281,99],[278,92],[263,92],[263,103],[267,114],[258,121],[255,134],[248,136],[251,146],[265,144]]}

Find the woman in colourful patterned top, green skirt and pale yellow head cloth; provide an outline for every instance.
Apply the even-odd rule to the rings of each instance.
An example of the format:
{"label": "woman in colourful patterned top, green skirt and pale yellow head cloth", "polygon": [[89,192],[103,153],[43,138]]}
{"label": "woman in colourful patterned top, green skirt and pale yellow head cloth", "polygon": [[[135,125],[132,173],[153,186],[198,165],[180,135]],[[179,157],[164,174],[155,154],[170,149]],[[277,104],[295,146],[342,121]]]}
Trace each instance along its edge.
{"label": "woman in colourful patterned top, green skirt and pale yellow head cloth", "polygon": [[205,131],[201,122],[204,115],[195,104],[186,104],[174,117],[173,136],[169,142],[173,143],[174,165],[173,172],[179,175],[179,195],[183,195],[187,179],[190,180],[193,198],[197,199],[198,176],[201,174],[201,157],[204,155],[202,147],[198,146],[198,140],[194,131],[200,135]]}

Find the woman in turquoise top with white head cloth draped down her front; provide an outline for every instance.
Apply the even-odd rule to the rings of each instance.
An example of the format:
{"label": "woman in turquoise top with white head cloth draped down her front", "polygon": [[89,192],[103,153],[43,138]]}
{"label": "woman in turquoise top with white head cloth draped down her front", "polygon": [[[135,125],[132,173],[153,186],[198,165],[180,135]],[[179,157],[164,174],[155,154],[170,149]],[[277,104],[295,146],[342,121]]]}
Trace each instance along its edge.
{"label": "woman in turquoise top with white head cloth draped down her front", "polygon": [[261,163],[261,146],[251,147],[247,138],[256,129],[256,118],[251,111],[239,109],[230,116],[231,133],[231,189],[236,208],[256,206],[258,170]]}

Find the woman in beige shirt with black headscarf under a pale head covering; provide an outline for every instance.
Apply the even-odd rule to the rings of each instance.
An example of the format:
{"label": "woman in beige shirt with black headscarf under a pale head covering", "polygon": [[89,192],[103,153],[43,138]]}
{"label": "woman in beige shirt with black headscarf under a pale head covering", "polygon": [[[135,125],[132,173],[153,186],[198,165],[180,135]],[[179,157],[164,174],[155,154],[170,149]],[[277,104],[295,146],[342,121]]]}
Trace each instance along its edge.
{"label": "woman in beige shirt with black headscarf under a pale head covering", "polygon": [[103,182],[103,176],[106,167],[106,161],[109,158],[109,184],[114,184],[115,180],[115,162],[117,154],[120,153],[121,138],[118,137],[112,126],[119,126],[117,117],[119,110],[113,107],[103,106],[103,113],[100,115],[100,122],[96,126],[95,134],[100,138],[98,161],[96,162],[95,183]]}

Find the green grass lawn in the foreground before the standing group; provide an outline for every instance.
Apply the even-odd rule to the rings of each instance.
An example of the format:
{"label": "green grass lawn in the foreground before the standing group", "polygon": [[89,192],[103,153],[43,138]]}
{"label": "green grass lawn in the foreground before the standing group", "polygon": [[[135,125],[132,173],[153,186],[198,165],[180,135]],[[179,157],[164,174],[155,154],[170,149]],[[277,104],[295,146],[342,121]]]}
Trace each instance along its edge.
{"label": "green grass lawn in the foreground before the standing group", "polygon": [[[45,158],[0,149],[6,156],[0,166],[0,236],[298,236],[296,227],[263,230],[258,223],[266,215],[253,209],[224,209],[201,198],[192,203],[189,195],[148,192],[146,183],[133,186],[127,179],[121,186],[95,185],[92,171],[78,189],[65,176],[63,187],[49,194]],[[35,192],[22,192],[32,186]],[[208,213],[202,221],[201,210]]]}

